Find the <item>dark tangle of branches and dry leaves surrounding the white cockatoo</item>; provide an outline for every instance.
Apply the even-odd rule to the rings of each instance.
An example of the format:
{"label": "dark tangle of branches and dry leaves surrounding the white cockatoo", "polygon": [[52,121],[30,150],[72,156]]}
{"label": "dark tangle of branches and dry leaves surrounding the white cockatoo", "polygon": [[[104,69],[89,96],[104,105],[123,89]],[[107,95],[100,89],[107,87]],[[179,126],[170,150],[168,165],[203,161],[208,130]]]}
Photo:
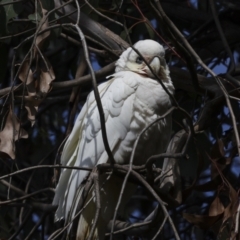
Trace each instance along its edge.
{"label": "dark tangle of branches and dry leaves surrounding the white cockatoo", "polygon": [[239,16],[235,0],[1,0],[0,238],[63,229],[51,202],[62,144],[92,89],[84,41],[102,82],[124,49],[151,38],[167,48],[176,89],[172,141],[134,170],[139,189],[118,230],[143,221],[124,236],[238,239]]}

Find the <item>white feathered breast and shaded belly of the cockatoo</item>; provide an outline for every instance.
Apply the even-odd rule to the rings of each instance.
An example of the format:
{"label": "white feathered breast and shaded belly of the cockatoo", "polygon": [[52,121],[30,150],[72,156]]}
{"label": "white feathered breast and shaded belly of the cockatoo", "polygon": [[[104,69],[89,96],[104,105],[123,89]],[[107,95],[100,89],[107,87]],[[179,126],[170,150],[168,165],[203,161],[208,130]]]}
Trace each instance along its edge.
{"label": "white feathered breast and shaded belly of the cockatoo", "polygon": [[[121,109],[124,111],[127,108],[131,114],[125,113],[119,116],[123,117],[125,121],[127,120],[127,131],[125,130],[120,144],[116,145],[113,150],[116,163],[127,164],[133,151],[134,142],[140,132],[171,107],[171,100],[161,84],[156,80],[130,71],[122,71],[113,76],[116,79],[121,76],[125,84],[132,84],[135,88],[135,94],[128,98]],[[172,93],[173,88],[169,89]],[[165,151],[170,134],[171,116],[167,116],[167,118],[154,124],[142,135],[135,153],[134,164],[141,165],[151,155]]]}

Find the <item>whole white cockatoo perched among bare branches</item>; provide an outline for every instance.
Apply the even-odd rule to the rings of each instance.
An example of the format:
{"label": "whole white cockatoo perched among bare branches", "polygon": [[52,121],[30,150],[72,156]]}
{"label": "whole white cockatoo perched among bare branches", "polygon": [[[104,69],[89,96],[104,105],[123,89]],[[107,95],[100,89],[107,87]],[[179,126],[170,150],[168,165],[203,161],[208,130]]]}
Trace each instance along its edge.
{"label": "whole white cockatoo perched among bare branches", "polygon": [[[116,62],[115,73],[110,76],[109,81],[98,87],[108,143],[117,164],[129,163],[140,132],[171,107],[169,93],[173,94],[174,87],[164,55],[164,48],[159,43],[153,40],[139,41],[134,48],[129,47],[122,53]],[[171,115],[167,115],[147,129],[136,147],[134,165],[142,165],[150,156],[166,150],[171,124]],[[99,111],[91,92],[64,146],[61,164],[93,168],[108,162],[109,157],[102,140]],[[53,204],[58,205],[57,220],[62,218],[69,222],[73,220],[84,187],[82,182],[88,174],[89,172],[84,170],[62,171],[53,200]],[[123,179],[120,177],[99,178],[101,211],[93,239],[104,238],[107,223],[114,215],[122,182]],[[126,186],[123,202],[130,198],[127,196],[128,190],[132,189],[128,187],[130,185],[129,183]],[[88,238],[95,217],[94,190],[92,189],[88,195],[89,203],[80,215],[76,239]]]}

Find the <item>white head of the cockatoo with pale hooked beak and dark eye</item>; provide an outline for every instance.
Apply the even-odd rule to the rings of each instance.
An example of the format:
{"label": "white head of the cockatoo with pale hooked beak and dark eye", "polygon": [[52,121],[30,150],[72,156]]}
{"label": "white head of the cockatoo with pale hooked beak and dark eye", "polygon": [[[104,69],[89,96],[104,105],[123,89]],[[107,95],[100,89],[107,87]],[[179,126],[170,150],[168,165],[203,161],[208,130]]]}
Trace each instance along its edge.
{"label": "white head of the cockatoo with pale hooked beak and dark eye", "polygon": [[[153,72],[162,80],[169,80],[169,70],[165,62],[165,51],[161,44],[153,40],[141,40],[134,44]],[[129,47],[116,62],[115,72],[132,71],[140,75],[156,78],[141,56]]]}

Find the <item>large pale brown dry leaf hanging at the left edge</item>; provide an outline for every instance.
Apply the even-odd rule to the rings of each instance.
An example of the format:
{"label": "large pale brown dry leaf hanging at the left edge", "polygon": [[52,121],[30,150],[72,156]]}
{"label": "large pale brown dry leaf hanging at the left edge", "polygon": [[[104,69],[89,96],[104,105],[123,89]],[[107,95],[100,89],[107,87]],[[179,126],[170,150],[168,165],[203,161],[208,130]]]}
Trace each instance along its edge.
{"label": "large pale brown dry leaf hanging at the left edge", "polygon": [[9,110],[4,129],[0,132],[0,155],[15,158],[14,142],[19,138],[27,138],[28,134],[20,129],[20,123],[12,109]]}

